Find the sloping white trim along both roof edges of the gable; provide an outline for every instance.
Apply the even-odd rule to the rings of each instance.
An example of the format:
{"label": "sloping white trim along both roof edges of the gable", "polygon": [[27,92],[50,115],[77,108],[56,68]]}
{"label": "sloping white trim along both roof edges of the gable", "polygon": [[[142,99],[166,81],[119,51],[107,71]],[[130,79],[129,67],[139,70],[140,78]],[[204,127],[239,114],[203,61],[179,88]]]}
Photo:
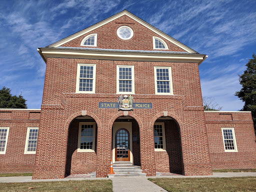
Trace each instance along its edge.
{"label": "sloping white trim along both roof edges of the gable", "polygon": [[83,30],[80,30],[80,31],[74,33],[74,34],[71,34],[70,36],[67,36],[67,37],[65,37],[65,38],[63,38],[63,39],[61,39],[61,40],[59,40],[59,41],[57,41],[57,42],[54,42],[54,43],[52,43],[52,44],[50,44],[50,45],[48,45],[48,46],[46,46],[46,47],[58,47],[58,46],[61,46],[61,45],[63,45],[64,43],[67,43],[67,42],[69,42],[69,41],[71,41],[71,40],[73,40],[73,39],[75,39],[75,38],[77,38],[77,37],[79,37],[79,36],[81,36],[81,35],[83,35],[83,34],[86,34],[86,33],[90,32],[90,31],[92,31],[92,30],[94,30],[94,29],[96,29],[96,28],[98,28],[98,27],[100,27],[100,26],[106,24],[106,23],[111,22],[112,20],[114,20],[114,19],[116,19],[116,18],[118,18],[118,17],[123,16],[123,15],[127,15],[127,16],[130,17],[131,19],[133,19],[133,20],[135,20],[136,22],[142,24],[142,25],[145,26],[146,28],[148,28],[148,29],[150,29],[151,31],[155,32],[157,35],[159,35],[159,36],[161,36],[162,38],[164,38],[164,39],[170,41],[171,43],[173,43],[173,44],[175,44],[176,46],[182,48],[183,50],[185,50],[185,51],[187,51],[187,52],[189,52],[189,53],[197,53],[197,52],[194,51],[193,49],[191,49],[191,48],[189,48],[188,46],[182,44],[181,42],[179,42],[178,40],[172,38],[171,36],[165,34],[165,33],[162,32],[161,30],[155,28],[154,26],[150,25],[149,23],[145,22],[144,20],[140,19],[139,17],[135,16],[134,14],[130,13],[130,12],[127,11],[127,10],[123,10],[123,11],[121,11],[121,12],[119,12],[119,13],[113,15],[113,16],[110,16],[110,17],[108,17],[108,18],[106,18],[106,19],[104,19],[104,20],[102,20],[102,21],[100,21],[100,22],[98,22],[98,23],[96,23],[96,24],[93,24],[93,25],[91,25],[91,26],[89,26],[89,27],[87,27],[87,28],[85,28],[85,29],[83,29]]}

